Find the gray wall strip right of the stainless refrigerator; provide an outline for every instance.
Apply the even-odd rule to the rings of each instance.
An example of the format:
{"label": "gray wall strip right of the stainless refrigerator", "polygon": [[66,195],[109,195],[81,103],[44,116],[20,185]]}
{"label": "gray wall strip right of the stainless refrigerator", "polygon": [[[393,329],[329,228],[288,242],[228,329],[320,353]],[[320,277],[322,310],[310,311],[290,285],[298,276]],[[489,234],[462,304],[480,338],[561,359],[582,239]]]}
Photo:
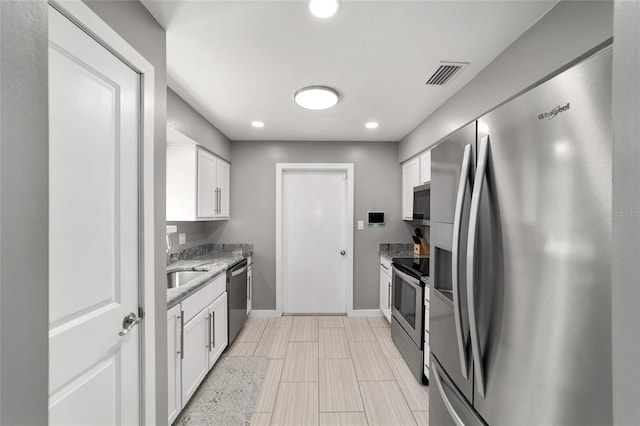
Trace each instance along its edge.
{"label": "gray wall strip right of the stainless refrigerator", "polygon": [[640,2],[616,0],[613,44],[613,419],[640,424]]}

